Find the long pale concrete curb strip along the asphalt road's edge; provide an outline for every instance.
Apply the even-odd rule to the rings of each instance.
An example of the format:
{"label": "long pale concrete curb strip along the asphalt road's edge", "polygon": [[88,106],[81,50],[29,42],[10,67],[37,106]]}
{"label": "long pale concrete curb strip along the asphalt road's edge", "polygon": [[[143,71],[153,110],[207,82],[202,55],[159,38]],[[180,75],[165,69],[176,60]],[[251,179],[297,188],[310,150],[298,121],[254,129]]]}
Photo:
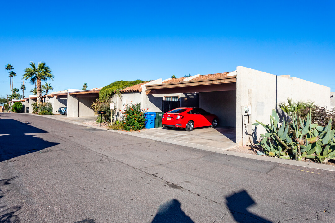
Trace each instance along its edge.
{"label": "long pale concrete curb strip along the asphalt road's edge", "polygon": [[[30,115],[36,115],[36,114],[30,114]],[[37,115],[37,116],[40,116],[40,115]],[[235,148],[236,146],[231,146],[231,147],[227,148],[226,150],[223,150],[223,149],[220,149],[220,148],[209,147],[209,146],[204,146],[204,145],[199,145],[199,144],[194,144],[194,143],[187,143],[187,142],[182,142],[182,141],[173,140],[173,139],[164,139],[164,138],[159,138],[159,137],[154,137],[154,136],[140,135],[138,133],[133,133],[133,132],[125,132],[125,131],[120,131],[120,130],[106,129],[106,128],[102,128],[100,126],[88,125],[88,124],[83,124],[83,123],[80,123],[80,122],[75,122],[75,121],[70,121],[70,120],[65,120],[65,119],[59,119],[57,117],[53,117],[53,116],[49,116],[49,115],[48,116],[44,115],[43,117],[52,118],[52,119],[55,119],[55,120],[64,121],[64,122],[68,122],[68,123],[72,123],[72,124],[76,124],[76,125],[82,125],[82,126],[91,127],[91,128],[103,129],[103,130],[106,130],[106,131],[113,131],[113,132],[117,132],[117,133],[121,133],[121,134],[132,135],[132,136],[137,136],[137,137],[140,137],[140,138],[152,139],[152,140],[155,140],[155,141],[161,141],[161,142],[166,142],[166,143],[171,143],[171,144],[176,144],[176,145],[182,145],[182,146],[187,146],[187,147],[196,148],[196,149],[202,149],[202,150],[221,153],[221,154],[226,154],[226,155],[239,156],[239,157],[257,159],[257,160],[263,160],[263,161],[269,161],[269,162],[277,162],[277,163],[282,163],[282,164],[287,164],[287,165],[302,166],[302,167],[313,168],[313,169],[318,169],[318,170],[335,171],[335,166],[327,165],[327,164],[314,163],[314,162],[303,162],[303,161],[296,161],[296,160],[291,160],[291,159],[280,159],[280,158],[275,158],[275,157],[270,157],[270,156],[261,156],[261,155],[254,155],[254,154],[248,154],[248,153],[242,153],[242,152],[235,152],[235,151],[227,150],[227,149]]]}

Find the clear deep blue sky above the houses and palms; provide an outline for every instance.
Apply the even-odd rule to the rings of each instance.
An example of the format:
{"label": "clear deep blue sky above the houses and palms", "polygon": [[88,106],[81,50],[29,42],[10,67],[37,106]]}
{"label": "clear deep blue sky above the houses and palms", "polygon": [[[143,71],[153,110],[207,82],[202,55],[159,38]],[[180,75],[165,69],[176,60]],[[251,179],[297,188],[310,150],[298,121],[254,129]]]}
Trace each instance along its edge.
{"label": "clear deep blue sky above the houses and palms", "polygon": [[[14,66],[19,88],[30,61],[52,69],[54,91],[237,66],[335,91],[335,1],[11,0],[1,6],[0,97],[9,94],[5,65]],[[26,88],[25,96],[33,86]]]}

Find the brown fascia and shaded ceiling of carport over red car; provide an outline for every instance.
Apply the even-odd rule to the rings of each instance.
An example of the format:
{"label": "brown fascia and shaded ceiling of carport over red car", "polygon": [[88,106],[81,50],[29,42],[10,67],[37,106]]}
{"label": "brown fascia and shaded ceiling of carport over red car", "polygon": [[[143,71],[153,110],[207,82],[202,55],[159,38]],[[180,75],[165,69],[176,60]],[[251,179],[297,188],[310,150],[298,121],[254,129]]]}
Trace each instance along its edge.
{"label": "brown fascia and shaded ceiling of carport over red car", "polygon": [[186,92],[235,91],[236,75],[216,79],[181,81],[146,85],[146,94],[170,94]]}

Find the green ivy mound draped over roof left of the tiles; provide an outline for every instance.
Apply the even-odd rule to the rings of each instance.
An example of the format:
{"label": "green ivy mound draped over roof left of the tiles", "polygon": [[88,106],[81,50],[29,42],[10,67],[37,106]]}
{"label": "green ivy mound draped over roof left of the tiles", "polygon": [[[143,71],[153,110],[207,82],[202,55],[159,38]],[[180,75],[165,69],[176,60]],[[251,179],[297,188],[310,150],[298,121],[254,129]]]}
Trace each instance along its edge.
{"label": "green ivy mound draped over roof left of the tiles", "polygon": [[99,92],[99,101],[109,101],[113,95],[118,94],[120,90],[127,87],[131,87],[145,81],[136,80],[136,81],[116,81],[105,87],[103,87]]}

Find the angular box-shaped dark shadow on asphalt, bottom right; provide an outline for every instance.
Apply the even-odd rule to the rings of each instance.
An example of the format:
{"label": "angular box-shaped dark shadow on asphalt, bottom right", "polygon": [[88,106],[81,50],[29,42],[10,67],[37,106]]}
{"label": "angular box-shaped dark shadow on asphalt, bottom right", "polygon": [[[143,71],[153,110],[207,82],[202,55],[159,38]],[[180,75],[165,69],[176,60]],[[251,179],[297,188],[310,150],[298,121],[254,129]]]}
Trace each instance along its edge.
{"label": "angular box-shaped dark shadow on asphalt, bottom right", "polygon": [[252,197],[250,197],[250,195],[245,190],[227,196],[226,200],[227,200],[226,205],[229,208],[231,215],[237,222],[273,223],[267,219],[264,219],[253,213],[250,213],[247,210],[248,207],[256,205],[256,202],[252,199]]}

